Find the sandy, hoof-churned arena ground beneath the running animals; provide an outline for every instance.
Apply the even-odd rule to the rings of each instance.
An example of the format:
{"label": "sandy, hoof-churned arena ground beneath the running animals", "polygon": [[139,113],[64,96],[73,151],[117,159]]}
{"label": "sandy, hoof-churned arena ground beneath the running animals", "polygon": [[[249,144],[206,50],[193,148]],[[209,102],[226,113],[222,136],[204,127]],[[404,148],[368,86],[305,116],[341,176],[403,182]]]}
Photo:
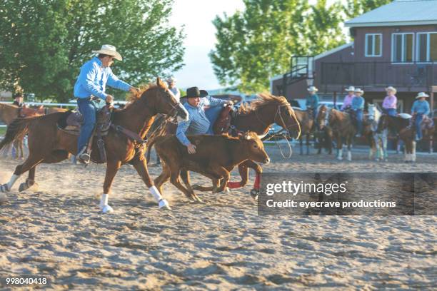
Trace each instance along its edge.
{"label": "sandy, hoof-churned arena ground beneath the running animals", "polygon": [[[418,163],[406,164],[401,155],[376,163],[366,153],[354,153],[353,162],[301,156],[297,148],[289,160],[273,146],[268,153],[273,163],[266,172],[437,170],[437,155],[418,155]],[[16,164],[0,160],[0,183],[9,180]],[[155,178],[161,168],[149,171]],[[164,196],[173,210],[162,211],[127,165],[109,199],[115,212],[102,215],[97,205],[103,165],[40,165],[36,178],[39,190],[18,193],[20,178],[0,205],[1,278],[46,275],[49,290],[432,290],[437,285],[433,216],[260,217],[250,186],[201,193],[205,203],[199,204],[170,184]],[[209,183],[199,175],[192,180]]]}

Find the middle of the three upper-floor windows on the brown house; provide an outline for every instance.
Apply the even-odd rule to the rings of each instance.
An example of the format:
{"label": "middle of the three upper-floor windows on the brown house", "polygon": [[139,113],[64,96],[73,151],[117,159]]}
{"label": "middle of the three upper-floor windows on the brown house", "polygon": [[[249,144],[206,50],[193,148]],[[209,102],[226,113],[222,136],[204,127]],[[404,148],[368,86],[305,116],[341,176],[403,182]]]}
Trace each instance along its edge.
{"label": "middle of the three upper-floor windows on the brown house", "polygon": [[413,61],[414,34],[393,34],[391,39],[391,61],[408,63]]}

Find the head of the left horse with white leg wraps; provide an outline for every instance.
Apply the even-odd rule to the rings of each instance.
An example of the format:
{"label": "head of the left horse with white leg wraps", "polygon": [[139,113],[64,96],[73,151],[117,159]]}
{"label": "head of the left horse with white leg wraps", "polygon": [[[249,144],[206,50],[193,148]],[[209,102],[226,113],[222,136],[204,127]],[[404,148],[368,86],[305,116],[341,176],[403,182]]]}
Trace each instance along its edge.
{"label": "head of the left horse with white leg wraps", "polygon": [[178,121],[188,121],[188,111],[176,100],[161,78],[156,78],[156,87],[146,90],[143,94],[146,94],[144,97],[152,103],[156,113],[174,116]]}

